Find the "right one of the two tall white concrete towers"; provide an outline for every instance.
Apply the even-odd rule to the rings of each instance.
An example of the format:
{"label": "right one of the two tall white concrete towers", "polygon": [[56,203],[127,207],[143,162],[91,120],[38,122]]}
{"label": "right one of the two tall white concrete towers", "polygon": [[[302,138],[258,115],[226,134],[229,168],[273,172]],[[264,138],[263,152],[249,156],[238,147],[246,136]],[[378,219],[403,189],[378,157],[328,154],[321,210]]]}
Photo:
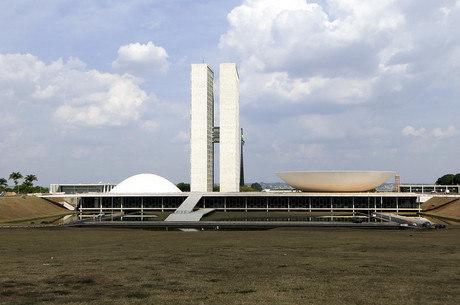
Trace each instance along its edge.
{"label": "right one of the two tall white concrete towers", "polygon": [[220,191],[240,191],[240,100],[236,64],[220,64]]}

